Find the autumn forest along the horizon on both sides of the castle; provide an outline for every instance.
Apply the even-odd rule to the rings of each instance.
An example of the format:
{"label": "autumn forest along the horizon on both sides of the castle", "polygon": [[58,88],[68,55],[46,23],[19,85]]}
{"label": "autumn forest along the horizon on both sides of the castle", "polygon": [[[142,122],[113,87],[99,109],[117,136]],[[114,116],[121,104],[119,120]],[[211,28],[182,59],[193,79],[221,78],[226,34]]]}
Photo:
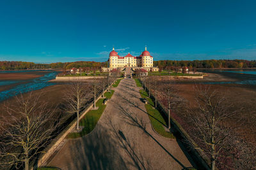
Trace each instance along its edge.
{"label": "autumn forest along the horizon on both sides of the castle", "polygon": [[[107,67],[108,62],[76,61],[37,64],[23,61],[0,61],[0,69],[71,69],[72,67]],[[256,67],[256,60],[157,60],[158,67],[195,67],[195,68],[247,68]]]}

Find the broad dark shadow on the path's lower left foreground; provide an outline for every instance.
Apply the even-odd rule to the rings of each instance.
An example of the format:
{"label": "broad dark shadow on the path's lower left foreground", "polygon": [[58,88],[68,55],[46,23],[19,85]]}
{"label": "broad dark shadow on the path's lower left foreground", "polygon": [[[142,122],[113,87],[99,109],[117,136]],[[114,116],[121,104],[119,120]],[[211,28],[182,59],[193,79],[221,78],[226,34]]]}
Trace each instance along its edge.
{"label": "broad dark shadow on the path's lower left foreground", "polygon": [[127,169],[122,155],[116,152],[116,142],[106,127],[98,124],[97,131],[68,141],[68,152],[65,154],[70,160],[58,167],[64,164],[61,169]]}

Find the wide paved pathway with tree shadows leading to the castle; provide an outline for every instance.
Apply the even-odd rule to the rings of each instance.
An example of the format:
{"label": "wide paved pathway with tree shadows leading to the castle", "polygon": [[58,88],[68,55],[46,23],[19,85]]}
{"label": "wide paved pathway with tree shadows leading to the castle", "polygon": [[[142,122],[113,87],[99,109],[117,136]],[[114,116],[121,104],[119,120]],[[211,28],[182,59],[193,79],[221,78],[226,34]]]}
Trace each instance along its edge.
{"label": "wide paved pathway with tree shadows leading to the castle", "polygon": [[115,88],[95,129],[69,139],[48,166],[61,169],[182,169],[191,167],[175,139],[153,131],[139,88],[127,78]]}

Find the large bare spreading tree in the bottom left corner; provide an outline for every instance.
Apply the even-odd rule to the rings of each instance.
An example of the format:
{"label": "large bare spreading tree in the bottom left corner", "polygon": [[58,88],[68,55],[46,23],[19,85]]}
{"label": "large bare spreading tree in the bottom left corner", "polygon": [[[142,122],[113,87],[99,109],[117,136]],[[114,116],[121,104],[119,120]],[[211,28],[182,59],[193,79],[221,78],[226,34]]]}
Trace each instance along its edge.
{"label": "large bare spreading tree in the bottom left corner", "polygon": [[15,97],[12,104],[6,104],[5,113],[0,118],[0,165],[4,168],[24,166],[52,139],[58,126],[57,112],[42,101],[41,95],[32,92],[24,97]]}

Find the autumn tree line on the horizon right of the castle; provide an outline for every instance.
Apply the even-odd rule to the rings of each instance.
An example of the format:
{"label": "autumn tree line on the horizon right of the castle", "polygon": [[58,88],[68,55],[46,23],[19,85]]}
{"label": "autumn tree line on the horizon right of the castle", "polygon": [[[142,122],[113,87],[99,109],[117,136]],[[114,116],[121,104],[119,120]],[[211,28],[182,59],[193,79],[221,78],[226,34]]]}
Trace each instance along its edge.
{"label": "autumn tree line on the horizon right of the castle", "polygon": [[196,68],[246,68],[256,67],[256,60],[157,60],[158,67],[196,67]]}

